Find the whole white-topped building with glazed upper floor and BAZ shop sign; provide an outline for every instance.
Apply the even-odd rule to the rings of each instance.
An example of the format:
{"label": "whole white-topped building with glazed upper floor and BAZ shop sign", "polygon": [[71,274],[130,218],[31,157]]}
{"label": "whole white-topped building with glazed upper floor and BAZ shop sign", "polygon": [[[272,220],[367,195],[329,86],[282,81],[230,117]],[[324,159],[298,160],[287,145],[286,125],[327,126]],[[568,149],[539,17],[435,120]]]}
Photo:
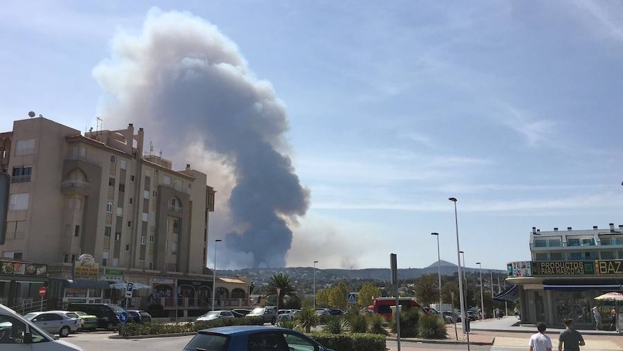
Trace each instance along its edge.
{"label": "whole white-topped building with glazed upper floor and BAZ shop sign", "polygon": [[[622,291],[623,226],[588,230],[530,232],[532,260],[510,262],[507,281],[516,285],[522,323],[543,321],[561,326],[573,318],[593,327],[595,297]],[[600,306],[604,321],[610,309]],[[608,317],[608,318],[606,318]]]}

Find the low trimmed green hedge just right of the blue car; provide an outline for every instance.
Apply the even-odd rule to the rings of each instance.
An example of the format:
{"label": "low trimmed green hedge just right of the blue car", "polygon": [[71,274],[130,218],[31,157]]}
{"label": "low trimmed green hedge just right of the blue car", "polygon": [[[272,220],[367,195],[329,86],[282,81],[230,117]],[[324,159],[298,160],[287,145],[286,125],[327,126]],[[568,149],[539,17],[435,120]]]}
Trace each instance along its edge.
{"label": "low trimmed green hedge just right of the blue car", "polygon": [[383,351],[386,350],[385,336],[378,334],[346,333],[326,334],[311,332],[311,339],[325,348],[336,351]]}

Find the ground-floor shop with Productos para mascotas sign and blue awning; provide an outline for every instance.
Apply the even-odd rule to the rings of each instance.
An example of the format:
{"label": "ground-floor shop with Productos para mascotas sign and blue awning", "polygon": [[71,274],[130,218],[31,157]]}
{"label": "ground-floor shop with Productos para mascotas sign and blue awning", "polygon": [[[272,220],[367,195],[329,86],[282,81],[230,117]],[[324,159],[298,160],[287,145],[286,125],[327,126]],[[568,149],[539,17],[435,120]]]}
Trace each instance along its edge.
{"label": "ground-floor shop with Productos para mascotas sign and blue awning", "polygon": [[577,327],[593,329],[591,309],[597,306],[606,319],[615,307],[595,298],[622,291],[623,260],[525,261],[507,268],[507,280],[518,287],[522,323],[561,327],[572,318]]}

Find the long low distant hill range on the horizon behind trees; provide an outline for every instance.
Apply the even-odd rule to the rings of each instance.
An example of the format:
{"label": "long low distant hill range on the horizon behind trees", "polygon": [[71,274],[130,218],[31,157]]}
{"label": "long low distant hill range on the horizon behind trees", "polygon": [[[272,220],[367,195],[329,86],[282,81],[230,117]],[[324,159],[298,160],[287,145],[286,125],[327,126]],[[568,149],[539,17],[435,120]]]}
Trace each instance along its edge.
{"label": "long low distant hill range on the horizon behind trees", "polygon": [[[440,261],[441,273],[444,276],[452,276],[457,273],[456,264],[447,261]],[[465,269],[466,273],[478,273],[477,268]],[[501,269],[482,269],[483,272],[494,271],[497,274],[506,274]],[[275,273],[285,273],[294,282],[295,285],[302,287],[310,287],[313,281],[314,271],[311,267],[283,267],[283,268],[247,268],[247,269],[231,269],[218,271],[219,276],[240,276],[249,277],[256,287],[267,285],[271,276]],[[398,269],[399,279],[419,278],[423,274],[437,274],[437,262],[434,262],[426,268],[401,268]],[[374,280],[383,282],[389,280],[390,269],[388,268],[365,268],[365,269],[318,269],[316,268],[316,285],[323,287],[331,285],[340,280]]]}

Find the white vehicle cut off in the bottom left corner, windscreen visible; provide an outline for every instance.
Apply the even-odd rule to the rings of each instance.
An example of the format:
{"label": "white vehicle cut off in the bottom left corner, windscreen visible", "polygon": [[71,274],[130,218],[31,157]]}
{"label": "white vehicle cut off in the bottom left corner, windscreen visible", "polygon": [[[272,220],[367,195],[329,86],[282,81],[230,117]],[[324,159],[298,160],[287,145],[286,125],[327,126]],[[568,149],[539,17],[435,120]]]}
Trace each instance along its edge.
{"label": "white vehicle cut off in the bottom left corner, windscreen visible", "polygon": [[0,305],[0,350],[84,351],[72,343],[55,340],[37,325],[5,305]]}

